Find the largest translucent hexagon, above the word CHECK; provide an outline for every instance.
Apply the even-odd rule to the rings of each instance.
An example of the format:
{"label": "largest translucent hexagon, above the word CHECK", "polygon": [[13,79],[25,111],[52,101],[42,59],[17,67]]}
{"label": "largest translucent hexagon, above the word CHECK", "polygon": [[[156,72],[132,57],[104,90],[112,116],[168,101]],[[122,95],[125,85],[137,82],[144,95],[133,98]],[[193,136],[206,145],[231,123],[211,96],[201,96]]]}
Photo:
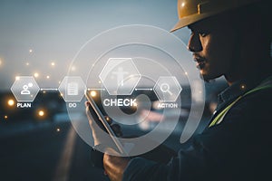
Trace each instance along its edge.
{"label": "largest translucent hexagon, above the word CHECK", "polygon": [[131,95],[141,74],[131,58],[110,58],[99,78],[110,95]]}

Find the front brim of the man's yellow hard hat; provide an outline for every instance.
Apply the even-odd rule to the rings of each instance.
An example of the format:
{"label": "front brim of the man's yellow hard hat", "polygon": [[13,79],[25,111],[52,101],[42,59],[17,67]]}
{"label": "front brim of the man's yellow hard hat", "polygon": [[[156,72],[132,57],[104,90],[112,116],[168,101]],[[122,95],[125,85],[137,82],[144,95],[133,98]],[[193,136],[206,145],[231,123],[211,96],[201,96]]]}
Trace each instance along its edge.
{"label": "front brim of the man's yellow hard hat", "polygon": [[205,19],[213,14],[216,14],[216,13],[207,13],[207,14],[201,14],[201,15],[192,14],[187,17],[182,17],[180,21],[177,24],[175,24],[175,26],[170,30],[170,33],[176,30],[179,30],[180,28],[183,28],[185,26],[188,26],[189,24],[194,24],[196,22],[199,22],[200,20]]}

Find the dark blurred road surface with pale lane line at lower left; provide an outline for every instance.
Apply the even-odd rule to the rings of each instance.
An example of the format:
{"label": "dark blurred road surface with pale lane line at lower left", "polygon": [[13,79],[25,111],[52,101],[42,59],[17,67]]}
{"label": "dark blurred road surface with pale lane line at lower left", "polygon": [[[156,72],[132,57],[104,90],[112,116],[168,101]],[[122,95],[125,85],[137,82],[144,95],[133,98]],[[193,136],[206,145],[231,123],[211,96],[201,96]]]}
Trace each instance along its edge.
{"label": "dark blurred road surface with pale lane line at lower left", "polygon": [[0,144],[0,180],[107,180],[70,122],[4,136]]}

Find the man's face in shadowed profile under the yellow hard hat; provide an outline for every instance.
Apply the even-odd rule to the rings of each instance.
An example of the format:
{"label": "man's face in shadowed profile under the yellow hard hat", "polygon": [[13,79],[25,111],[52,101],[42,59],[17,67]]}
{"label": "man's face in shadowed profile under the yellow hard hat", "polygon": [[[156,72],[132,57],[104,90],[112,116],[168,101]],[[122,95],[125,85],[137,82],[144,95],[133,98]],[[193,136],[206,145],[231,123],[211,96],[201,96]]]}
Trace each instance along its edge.
{"label": "man's face in shadowed profile under the yellow hard hat", "polygon": [[[228,21],[227,21],[228,22]],[[235,33],[226,21],[207,19],[190,24],[188,43],[193,59],[205,81],[228,76],[233,63],[233,51],[237,47]]]}

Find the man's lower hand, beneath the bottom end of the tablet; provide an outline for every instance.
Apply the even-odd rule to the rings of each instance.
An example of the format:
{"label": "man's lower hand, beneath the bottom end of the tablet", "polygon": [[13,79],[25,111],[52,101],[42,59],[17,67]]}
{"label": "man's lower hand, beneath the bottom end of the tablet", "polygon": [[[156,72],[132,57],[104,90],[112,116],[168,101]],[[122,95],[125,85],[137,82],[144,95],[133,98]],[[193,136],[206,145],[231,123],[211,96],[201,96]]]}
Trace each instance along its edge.
{"label": "man's lower hand, beneath the bottom end of the tablet", "polygon": [[127,167],[130,159],[127,157],[116,157],[104,154],[103,165],[105,173],[112,181],[121,181],[123,172]]}

